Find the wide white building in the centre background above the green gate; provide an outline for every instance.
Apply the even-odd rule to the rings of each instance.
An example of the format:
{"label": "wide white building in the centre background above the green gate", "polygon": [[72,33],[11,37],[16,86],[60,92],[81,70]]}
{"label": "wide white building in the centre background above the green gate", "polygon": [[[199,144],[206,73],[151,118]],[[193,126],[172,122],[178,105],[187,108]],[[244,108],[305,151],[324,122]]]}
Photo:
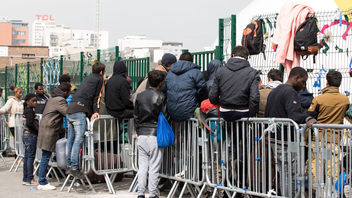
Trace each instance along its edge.
{"label": "wide white building in the centre background above the green gate", "polygon": [[150,62],[158,62],[165,53],[174,54],[180,58],[183,44],[180,42],[164,42],[162,40],[146,39],[145,35],[125,36],[118,41],[122,58],[144,58],[150,57]]}

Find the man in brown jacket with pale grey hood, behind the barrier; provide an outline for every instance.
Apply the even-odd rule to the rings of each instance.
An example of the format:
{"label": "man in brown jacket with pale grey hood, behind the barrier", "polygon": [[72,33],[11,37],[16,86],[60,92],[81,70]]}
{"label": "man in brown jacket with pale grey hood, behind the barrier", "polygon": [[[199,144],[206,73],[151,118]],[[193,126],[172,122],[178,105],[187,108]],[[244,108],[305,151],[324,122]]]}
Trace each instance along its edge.
{"label": "man in brown jacket with pale grey hood, behind the barrier", "polygon": [[259,89],[260,101],[259,101],[259,112],[258,117],[264,117],[264,111],[266,106],[266,99],[268,99],[269,93],[275,89],[278,85],[284,81],[283,73],[278,69],[271,69],[268,72],[268,84],[265,85],[264,89]]}

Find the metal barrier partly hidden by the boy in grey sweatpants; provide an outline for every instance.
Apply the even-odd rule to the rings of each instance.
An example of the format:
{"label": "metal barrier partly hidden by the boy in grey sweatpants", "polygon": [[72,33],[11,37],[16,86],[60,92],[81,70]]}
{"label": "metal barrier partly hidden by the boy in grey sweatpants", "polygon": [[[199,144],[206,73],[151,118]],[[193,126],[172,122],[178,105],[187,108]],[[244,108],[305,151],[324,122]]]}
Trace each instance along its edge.
{"label": "metal barrier partly hidden by the boy in grey sweatpants", "polygon": [[[172,122],[171,127],[175,133],[173,146],[165,148],[164,159],[159,176],[174,180],[168,198],[174,196],[180,182],[184,182],[180,197],[188,188],[192,197],[197,197],[195,189],[200,192],[200,187],[205,180],[205,172],[201,162],[205,152],[202,150],[202,129],[199,129],[198,120],[188,119],[181,123]],[[137,138],[133,135],[132,161],[134,171],[138,171]],[[138,188],[138,173],[132,182],[129,192],[136,192]],[[159,192],[160,194],[160,192]]]}

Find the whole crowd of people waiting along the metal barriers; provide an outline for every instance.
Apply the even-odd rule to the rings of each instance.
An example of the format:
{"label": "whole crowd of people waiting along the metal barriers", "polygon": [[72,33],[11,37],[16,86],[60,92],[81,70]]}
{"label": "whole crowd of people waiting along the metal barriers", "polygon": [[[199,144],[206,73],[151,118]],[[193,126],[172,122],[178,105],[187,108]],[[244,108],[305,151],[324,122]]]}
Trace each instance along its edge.
{"label": "whole crowd of people waiting along the metal barriers", "polygon": [[[224,66],[220,61],[212,60],[207,71],[202,72],[201,67],[193,63],[193,56],[189,52],[184,52],[178,61],[174,55],[164,54],[159,66],[139,80],[136,92],[131,90],[131,79],[127,77],[127,67],[123,61],[114,63],[113,75],[108,79],[105,78],[105,65],[101,62],[93,64],[92,74],[83,79],[74,94],[71,94],[71,79],[67,74],[60,76],[59,85],[51,92],[50,97],[44,93],[43,84],[37,83],[35,93],[27,94],[23,102],[22,90],[12,87],[14,96],[8,97],[0,113],[10,113],[8,127],[14,136],[14,114],[23,112],[22,138],[25,157],[22,184],[37,185],[38,189],[42,190],[56,189],[46,181],[46,173],[51,154],[55,152],[55,143],[60,137],[65,137],[61,130],[63,119],[67,119],[68,129],[66,173],[78,179],[85,179],[80,171],[79,157],[82,143],[85,141],[86,119],[99,120],[101,103],[105,105],[107,113],[116,119],[134,119],[139,151],[139,198],[145,197],[148,171],[149,196],[158,197],[156,187],[164,150],[158,148],[156,138],[160,112],[169,122],[183,122],[194,117],[195,110],[203,101],[208,100],[210,104],[219,106],[218,116],[227,122],[241,118],[265,117],[289,118],[298,124],[306,124],[307,128],[316,123],[343,124],[346,111],[351,107],[348,97],[339,92],[342,80],[340,72],[329,71],[326,75],[326,88],[322,90],[321,95],[313,98],[313,94],[306,91],[308,74],[305,69],[293,68],[285,83],[283,73],[271,69],[268,73],[268,83],[263,86],[258,71],[251,67],[248,58],[247,48],[237,46]],[[42,114],[40,125],[37,114]],[[239,128],[241,130],[241,127]],[[234,132],[242,134],[240,130]],[[283,183],[285,186],[291,183],[292,187],[286,187],[282,196],[294,196],[297,165],[294,154],[292,161],[288,161],[288,131],[281,132],[283,139],[281,135],[269,138],[273,142],[283,141],[284,146],[277,144],[276,147],[275,143],[271,143],[271,149],[277,152],[275,160],[281,186]],[[248,135],[246,132],[244,134]],[[239,160],[245,160],[247,163],[249,159],[245,157],[251,152],[247,149],[247,137],[240,135],[240,140],[236,140],[236,135],[233,137],[232,151],[237,151],[236,142],[241,141],[246,149],[239,154]],[[316,147],[314,140],[312,146]],[[334,152],[339,152],[339,144],[334,140],[329,139],[328,147],[335,148]],[[33,179],[36,148],[43,150],[38,181]],[[11,149],[6,150],[6,153],[11,152]],[[335,161],[332,164],[336,166],[328,166],[327,177],[337,181],[339,159],[333,155],[334,153],[331,159]],[[316,158],[312,153],[312,163],[315,163]],[[232,166],[239,164],[230,161]],[[293,170],[291,173],[288,172],[289,163]],[[281,171],[282,169],[284,171]],[[335,169],[336,174],[329,175],[330,169]],[[292,175],[292,181],[286,179],[289,174]],[[312,175],[312,178],[314,177]]]}

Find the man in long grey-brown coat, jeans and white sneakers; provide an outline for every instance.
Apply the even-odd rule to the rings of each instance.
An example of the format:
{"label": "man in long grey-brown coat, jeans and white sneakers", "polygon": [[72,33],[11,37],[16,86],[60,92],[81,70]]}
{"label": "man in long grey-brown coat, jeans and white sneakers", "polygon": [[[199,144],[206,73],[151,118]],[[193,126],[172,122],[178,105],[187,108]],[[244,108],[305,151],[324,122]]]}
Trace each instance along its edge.
{"label": "man in long grey-brown coat, jeans and white sneakers", "polygon": [[66,98],[71,93],[71,85],[62,82],[51,92],[48,103],[45,106],[42,119],[40,120],[37,148],[43,150],[39,166],[39,190],[55,190],[46,181],[46,171],[52,152],[55,152],[56,142],[59,139],[59,132],[62,126],[63,117],[66,115]]}

